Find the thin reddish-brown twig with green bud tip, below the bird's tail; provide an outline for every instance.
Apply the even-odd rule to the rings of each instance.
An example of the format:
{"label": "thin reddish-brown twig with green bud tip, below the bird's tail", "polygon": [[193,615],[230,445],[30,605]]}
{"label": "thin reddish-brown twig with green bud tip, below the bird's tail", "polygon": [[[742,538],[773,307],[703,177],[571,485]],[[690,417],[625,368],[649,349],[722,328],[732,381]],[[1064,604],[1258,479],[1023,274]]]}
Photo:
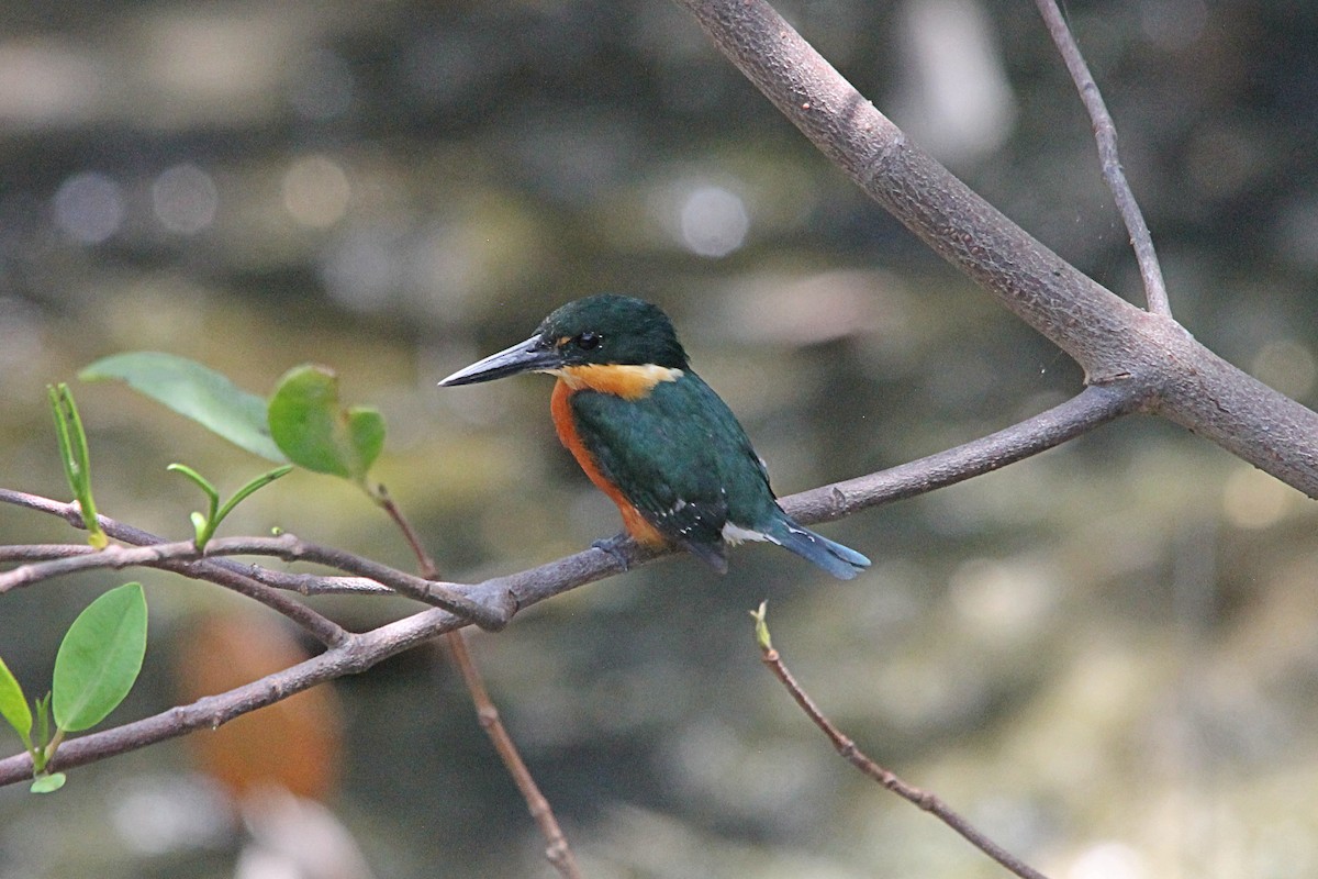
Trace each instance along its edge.
{"label": "thin reddish-brown twig with green bud tip, below the bird's tail", "polygon": [[805,712],[807,717],[809,717],[811,721],[813,721],[813,723],[824,731],[828,739],[833,743],[833,747],[842,755],[844,759],[846,759],[847,763],[861,770],[861,772],[892,791],[903,800],[912,803],[929,814],[937,817],[949,828],[960,833],[970,845],[983,851],[1012,874],[1020,876],[1021,879],[1046,879],[1044,874],[1039,872],[1028,863],[985,836],[982,830],[970,824],[970,821],[952,809],[952,807],[936,795],[907,784],[891,770],[875,763],[859,747],[857,747],[855,742],[837,729],[828,716],[820,710],[818,705],[815,704],[815,700],[811,698],[809,693],[807,693],[801,685],[796,683],[792,672],[788,671],[787,666],[783,663],[782,656],[779,656],[778,651],[774,650],[772,640],[768,637],[768,623],[766,622],[764,615],[764,604],[760,604],[759,610],[751,611],[751,617],[755,618],[755,640],[759,644],[760,659],[764,666],[774,672],[774,676],[782,681],[783,687],[787,688],[787,692],[791,693],[792,698],[796,700],[796,704],[801,706],[801,710]]}

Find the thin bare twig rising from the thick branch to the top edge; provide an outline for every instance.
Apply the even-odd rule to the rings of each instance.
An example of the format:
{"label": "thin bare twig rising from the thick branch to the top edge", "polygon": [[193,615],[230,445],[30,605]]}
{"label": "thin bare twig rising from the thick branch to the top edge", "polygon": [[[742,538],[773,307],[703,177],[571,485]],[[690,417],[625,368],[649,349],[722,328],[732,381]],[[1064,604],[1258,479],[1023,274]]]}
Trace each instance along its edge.
{"label": "thin bare twig rising from the thick branch to the top edge", "polygon": [[1044,24],[1048,25],[1053,45],[1057,46],[1062,61],[1066,62],[1072,82],[1075,83],[1079,99],[1085,103],[1089,119],[1094,124],[1094,140],[1098,144],[1098,158],[1103,166],[1103,179],[1107,181],[1107,188],[1112,191],[1122,223],[1126,224],[1126,231],[1131,236],[1131,246],[1135,248],[1135,260],[1140,264],[1140,278],[1144,281],[1144,298],[1149,311],[1170,318],[1172,303],[1166,297],[1166,283],[1162,281],[1162,268],[1159,265],[1157,250],[1153,249],[1153,236],[1149,235],[1149,227],[1144,221],[1144,213],[1140,211],[1139,202],[1135,200],[1135,192],[1126,179],[1126,171],[1122,169],[1122,159],[1116,152],[1116,124],[1112,123],[1112,117],[1107,112],[1103,95],[1098,91],[1098,84],[1089,71],[1085,55],[1081,54],[1075,37],[1066,26],[1066,18],[1057,8],[1056,0],[1036,0],[1036,3],[1040,14],[1044,16]]}

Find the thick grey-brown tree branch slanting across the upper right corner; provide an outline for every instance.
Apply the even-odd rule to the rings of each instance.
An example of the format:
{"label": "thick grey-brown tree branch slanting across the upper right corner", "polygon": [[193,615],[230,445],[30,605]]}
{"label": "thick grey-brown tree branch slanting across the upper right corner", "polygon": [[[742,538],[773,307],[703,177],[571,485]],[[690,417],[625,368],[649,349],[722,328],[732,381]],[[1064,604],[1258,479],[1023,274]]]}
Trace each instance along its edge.
{"label": "thick grey-brown tree branch slanting across the upper right corner", "polygon": [[763,0],[677,0],[861,188],[1083,366],[1147,409],[1318,498],[1318,412],[1174,320],[1124,302],[975,195],[879,113]]}

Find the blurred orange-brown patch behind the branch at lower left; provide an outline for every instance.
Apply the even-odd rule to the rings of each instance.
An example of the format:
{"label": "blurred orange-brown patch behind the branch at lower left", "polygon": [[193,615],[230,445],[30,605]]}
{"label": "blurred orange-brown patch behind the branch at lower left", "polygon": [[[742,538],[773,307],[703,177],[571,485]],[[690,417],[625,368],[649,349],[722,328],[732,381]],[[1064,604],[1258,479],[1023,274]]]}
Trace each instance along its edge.
{"label": "blurred orange-brown patch behind the branch at lower left", "polygon": [[[246,613],[207,617],[185,638],[178,676],[188,702],[295,666],[308,654],[274,621]],[[324,800],[340,767],[341,710],[328,685],[314,687],[187,737],[200,768],[241,797],[282,787]]]}

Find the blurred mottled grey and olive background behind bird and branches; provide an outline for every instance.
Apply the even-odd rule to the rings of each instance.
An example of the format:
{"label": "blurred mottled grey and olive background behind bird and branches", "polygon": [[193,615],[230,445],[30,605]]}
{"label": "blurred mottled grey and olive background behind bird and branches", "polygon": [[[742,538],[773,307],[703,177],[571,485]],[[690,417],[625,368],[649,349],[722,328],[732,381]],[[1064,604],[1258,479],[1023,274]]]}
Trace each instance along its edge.
{"label": "blurred mottled grey and olive background behind bird and branches", "polygon": [[[1141,300],[1033,4],[779,8],[990,202]],[[1315,405],[1318,7],[1068,12],[1177,316]],[[435,382],[601,290],[673,316],[782,494],[1081,387],[664,0],[5,3],[3,21],[5,488],[67,499],[45,385],[72,381],[101,511],[190,536],[202,499],[166,464],[223,492],[268,465],[76,370],[169,351],[265,394],[316,361],[384,411],[376,476],[445,576],[548,561],[618,528],[554,438],[550,380]],[[472,647],[593,879],[1003,875],[832,752],[760,667],[746,611],[764,598],[776,646],[862,749],[1049,875],[1311,876],[1315,525],[1297,492],[1132,418],[825,526],[875,560],[851,582],[766,547],[726,577],[675,559]],[[282,480],[223,532],[272,526],[413,565],[328,477]],[[79,535],[0,509],[0,539]],[[4,596],[0,655],[30,693],[78,610],[138,576],[146,672],[111,722],[310,648],[215,586],[84,576]],[[357,630],[414,610],[315,605]],[[319,693],[297,720],[250,718],[231,751],[194,734],[76,770],[57,796],[0,791],[0,876],[554,875],[442,650]],[[307,799],[248,796],[272,781]],[[306,849],[337,872],[289,872]]]}

